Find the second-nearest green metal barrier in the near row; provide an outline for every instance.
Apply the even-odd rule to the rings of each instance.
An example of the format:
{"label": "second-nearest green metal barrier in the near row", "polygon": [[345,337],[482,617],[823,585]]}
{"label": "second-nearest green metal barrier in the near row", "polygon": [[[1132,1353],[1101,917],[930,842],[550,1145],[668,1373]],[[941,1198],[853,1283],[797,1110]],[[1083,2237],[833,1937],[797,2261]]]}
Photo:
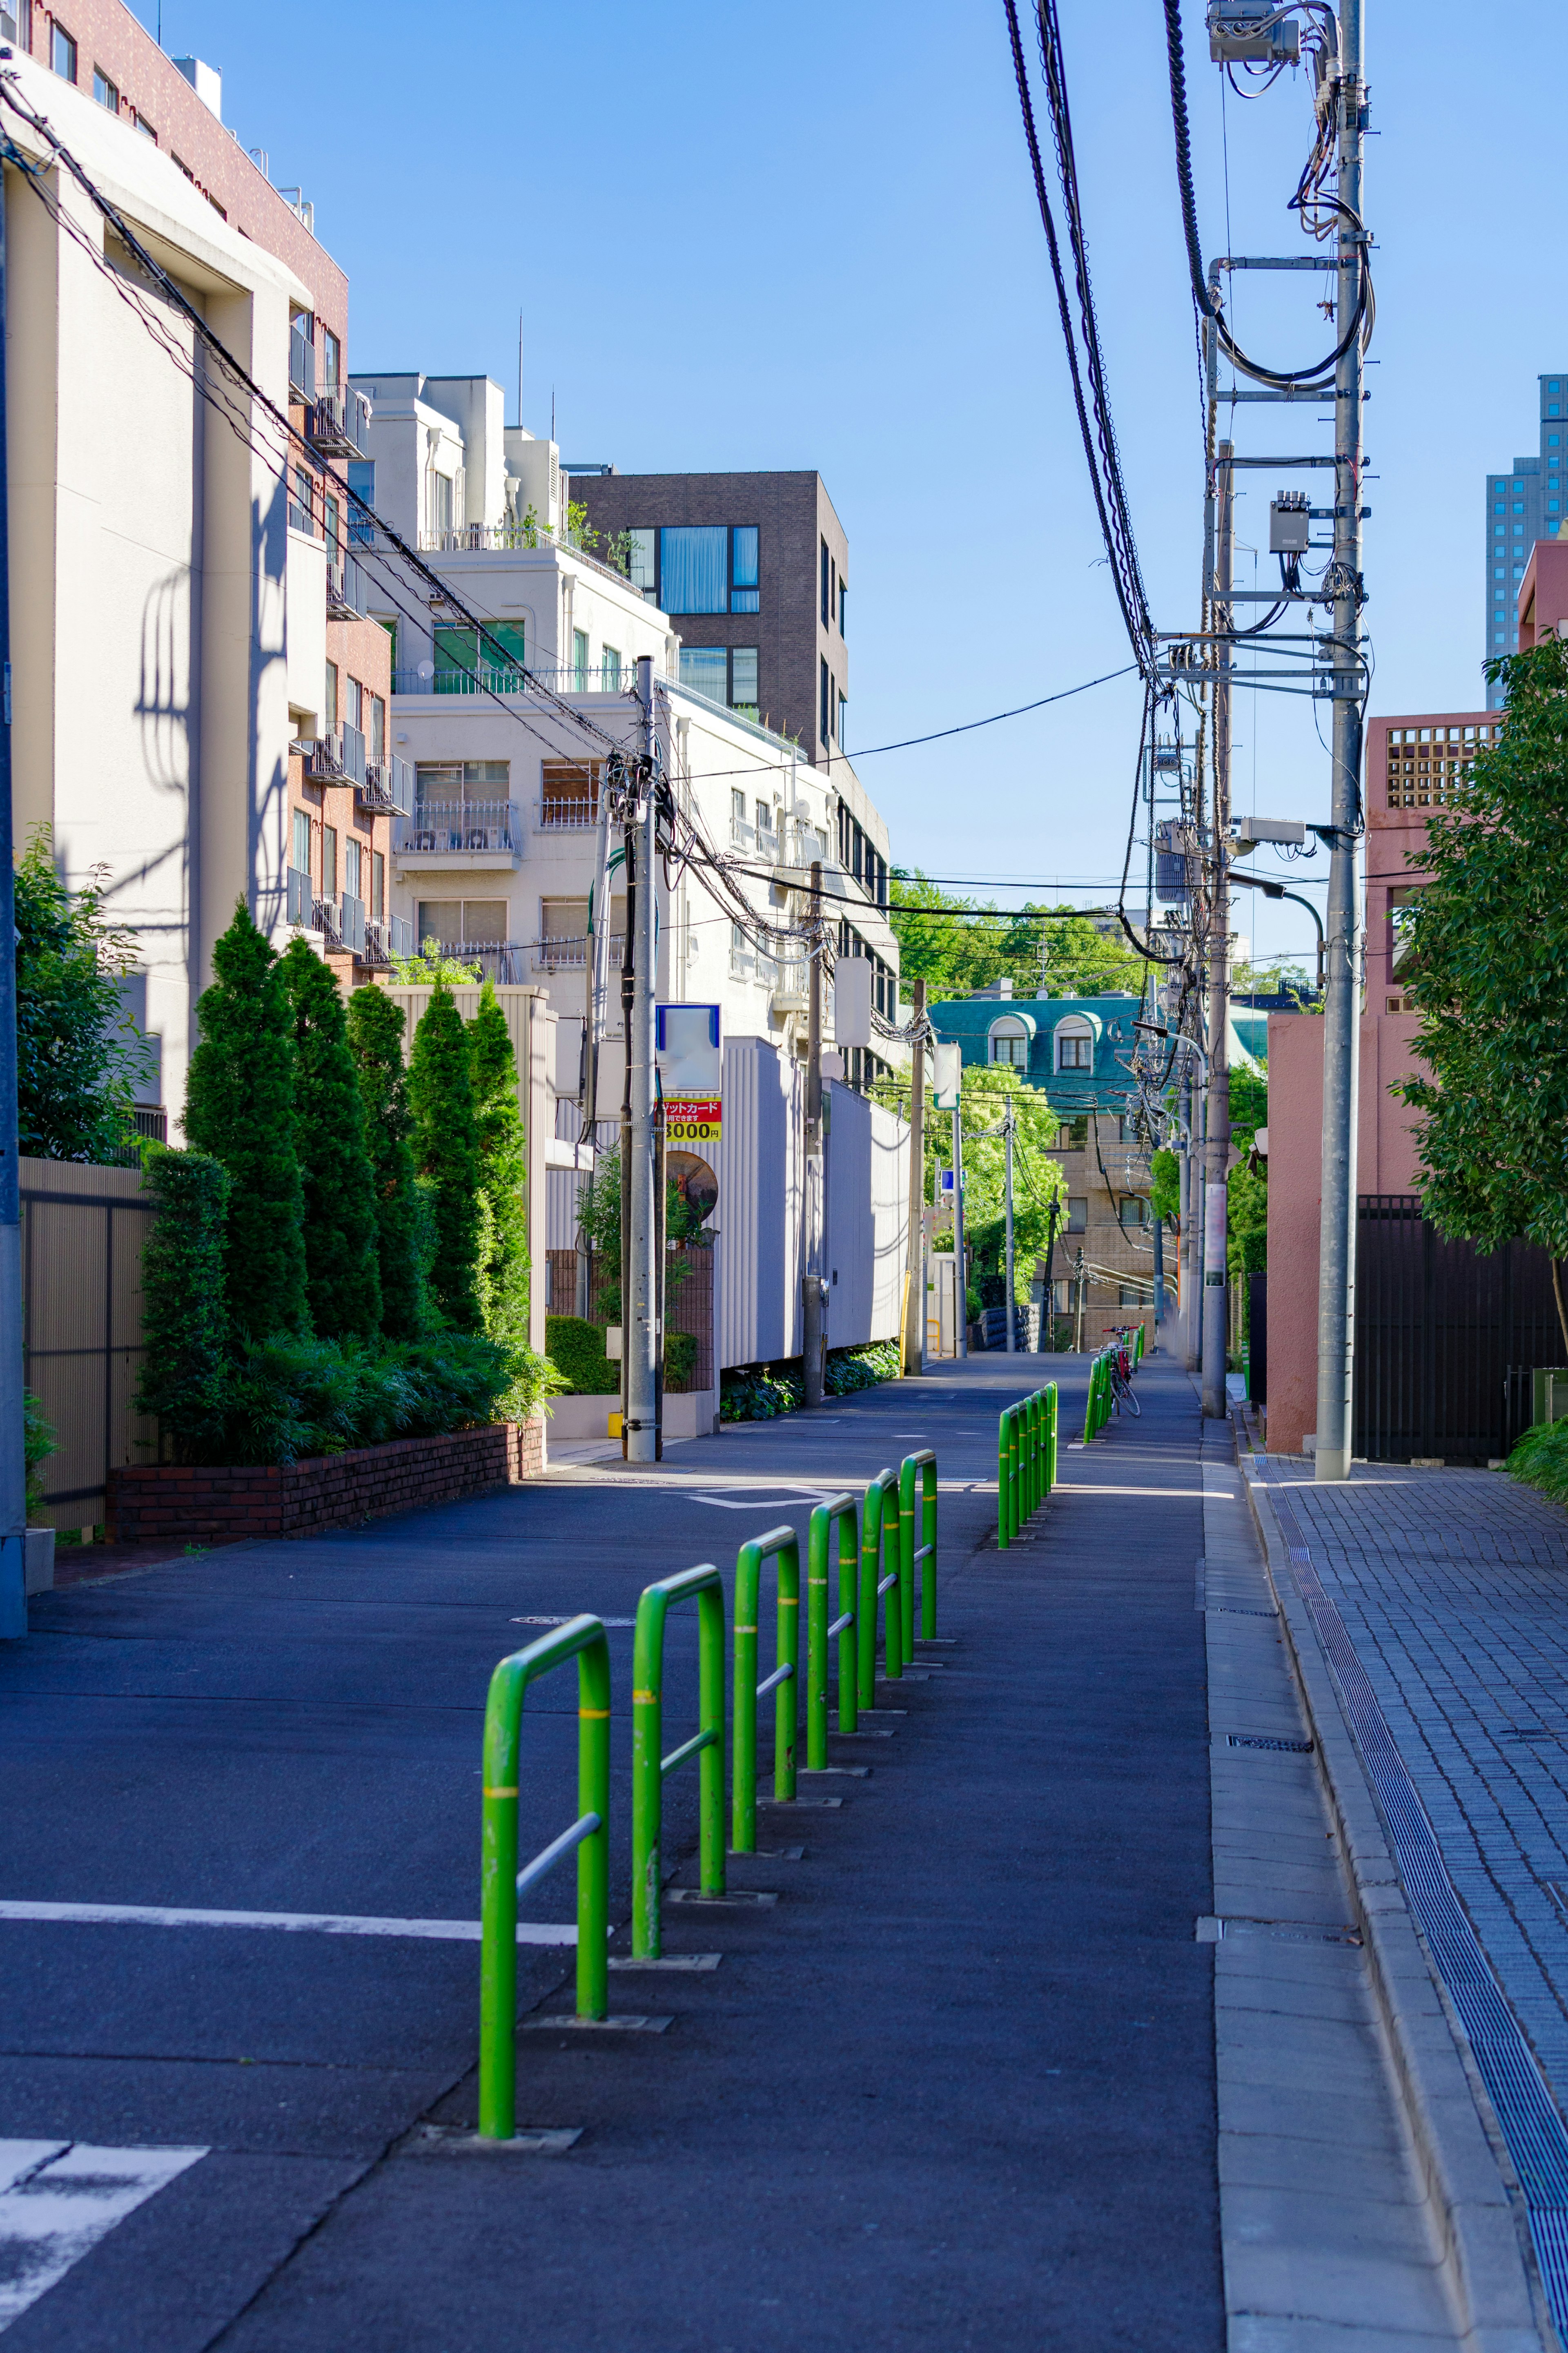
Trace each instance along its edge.
{"label": "second-nearest green metal barrier in the near row", "polygon": [[[670,1755],[665,1744],[665,1619],[677,1602],[696,1600],[698,1729]],[[665,1774],[698,1760],[698,1821],[703,1894],[724,1894],[724,1579],[703,1562],[661,1577],[637,1598],[632,1635],[632,1958],[661,1953],[661,1840]]]}

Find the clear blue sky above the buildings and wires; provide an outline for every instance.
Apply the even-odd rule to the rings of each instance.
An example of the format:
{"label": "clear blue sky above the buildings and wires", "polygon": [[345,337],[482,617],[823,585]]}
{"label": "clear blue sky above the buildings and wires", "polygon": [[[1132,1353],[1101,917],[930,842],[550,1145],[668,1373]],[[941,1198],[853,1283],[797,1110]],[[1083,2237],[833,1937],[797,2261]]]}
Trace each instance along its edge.
{"label": "clear blue sky above the buildings and wires", "polygon": [[[1284,200],[1307,75],[1222,118],[1185,16],[1206,252],[1227,209],[1237,252],[1305,252]],[[1154,616],[1182,628],[1201,426],[1161,9],[1063,0],[1063,38],[1133,522]],[[223,68],[226,120],[315,200],[353,367],[489,369],[510,416],[522,311],[524,424],[548,431],[555,388],[567,459],[820,468],[851,541],[851,751],[1126,661],[999,0],[165,0],[162,40]],[[1544,0],[1507,42],[1450,0],[1368,9],[1375,713],[1481,699],[1481,475],[1535,447],[1535,376],[1568,367],[1559,49]],[[1251,280],[1237,320],[1300,362],[1328,348],[1316,280],[1284,285]],[[1316,409],[1253,414],[1328,447]],[[1246,431],[1279,447],[1276,424]],[[1255,480],[1244,544],[1276,487]],[[860,774],[900,861],[1088,901],[1119,868],[1135,725],[1119,682]],[[1326,816],[1309,704],[1244,696],[1237,739],[1239,807]],[[1260,953],[1305,936],[1291,908],[1258,918]]]}

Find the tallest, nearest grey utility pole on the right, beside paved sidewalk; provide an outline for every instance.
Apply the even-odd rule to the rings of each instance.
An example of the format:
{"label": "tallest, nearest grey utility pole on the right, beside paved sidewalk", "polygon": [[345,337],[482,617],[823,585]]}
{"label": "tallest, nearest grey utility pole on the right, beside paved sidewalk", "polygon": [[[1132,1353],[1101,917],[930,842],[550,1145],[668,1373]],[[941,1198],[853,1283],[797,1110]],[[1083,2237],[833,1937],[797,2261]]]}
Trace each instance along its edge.
{"label": "tallest, nearest grey utility pole on the right, beside paved sidewalk", "polygon": [[1368,231],[1361,228],[1361,0],[1340,0],[1340,212],[1335,325],[1345,351],[1333,402],[1333,840],[1324,998],[1324,1186],[1316,1297],[1316,1454],[1312,1475],[1349,1478],[1356,1285],[1356,1082],[1361,1031],[1361,336]]}

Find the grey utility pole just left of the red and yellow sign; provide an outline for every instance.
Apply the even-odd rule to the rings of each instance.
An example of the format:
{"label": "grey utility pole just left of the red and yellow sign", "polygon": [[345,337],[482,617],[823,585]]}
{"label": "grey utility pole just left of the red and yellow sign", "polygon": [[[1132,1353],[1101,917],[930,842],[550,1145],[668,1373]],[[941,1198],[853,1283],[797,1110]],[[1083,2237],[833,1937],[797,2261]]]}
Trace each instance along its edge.
{"label": "grey utility pole just left of the red and yellow sign", "polygon": [[[654,1068],[654,998],[658,984],[658,734],[654,718],[654,664],[637,661],[642,701],[642,776],[628,845],[635,847],[637,922],[632,953],[632,1002],[625,1031],[630,1066],[628,1188],[625,1188],[625,1297],[621,1301],[625,1351],[623,1454],[628,1464],[658,1461],[658,1139]],[[628,929],[630,906],[628,906]]]}

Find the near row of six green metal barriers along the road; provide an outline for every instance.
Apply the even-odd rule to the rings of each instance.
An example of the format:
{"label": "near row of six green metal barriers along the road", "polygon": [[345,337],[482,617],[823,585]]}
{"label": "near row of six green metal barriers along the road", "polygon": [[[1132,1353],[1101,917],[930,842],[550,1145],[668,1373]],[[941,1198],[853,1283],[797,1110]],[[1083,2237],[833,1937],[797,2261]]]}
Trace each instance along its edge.
{"label": "near row of six green metal barriers along the road", "polygon": [[[1051,1391],[1056,1466],[1056,1391]],[[827,1581],[837,1548],[837,1619]],[[776,1562],[776,1659],[757,1680],[762,1572]],[[919,1593],[919,1600],[917,1600]],[[698,1607],[698,1729],[663,1753],[665,1621],[675,1605]],[[839,1732],[877,1697],[877,1605],[884,1602],[884,1673],[900,1678],[919,1640],[936,1638],[936,1454],[905,1454],[879,1471],[860,1506],[832,1497],[806,1534],[806,1767],[827,1765],[827,1657],[839,1645]],[[757,1701],[773,1692],[773,1798],[790,1802],[799,1739],[799,1537],[771,1527],[741,1546],[733,1626],[731,1838],[757,1852]],[[517,1868],[522,1708],[531,1682],[578,1664],[578,1819]],[[484,1708],[484,1828],[480,1887],[480,2137],[510,2141],[517,2129],[517,1897],[571,1847],[578,1852],[576,2012],[609,2012],[609,1642],[604,1621],[576,1617],[503,1659]],[[663,1784],[698,1760],[701,1894],[724,1894],[724,1579],[712,1565],[682,1569],[644,1588],[632,1635],[632,1958],[661,1953]]]}

